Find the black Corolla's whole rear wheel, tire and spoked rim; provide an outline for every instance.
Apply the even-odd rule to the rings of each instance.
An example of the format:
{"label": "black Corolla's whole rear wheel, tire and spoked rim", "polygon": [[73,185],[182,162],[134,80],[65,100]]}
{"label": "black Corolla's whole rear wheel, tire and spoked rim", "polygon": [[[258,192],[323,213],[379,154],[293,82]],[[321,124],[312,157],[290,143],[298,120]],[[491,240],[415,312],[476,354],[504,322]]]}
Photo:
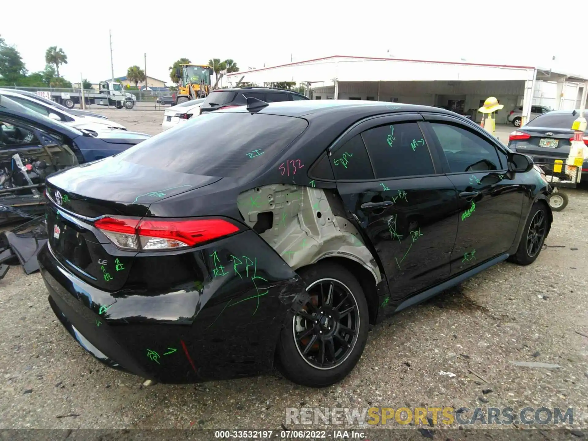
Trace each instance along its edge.
{"label": "black Corolla's whole rear wheel, tire and spoked rim", "polygon": [[278,342],[283,375],[303,386],[330,386],[355,367],[368,340],[368,302],[358,280],[322,260],[300,271],[310,295],[302,310],[288,313]]}

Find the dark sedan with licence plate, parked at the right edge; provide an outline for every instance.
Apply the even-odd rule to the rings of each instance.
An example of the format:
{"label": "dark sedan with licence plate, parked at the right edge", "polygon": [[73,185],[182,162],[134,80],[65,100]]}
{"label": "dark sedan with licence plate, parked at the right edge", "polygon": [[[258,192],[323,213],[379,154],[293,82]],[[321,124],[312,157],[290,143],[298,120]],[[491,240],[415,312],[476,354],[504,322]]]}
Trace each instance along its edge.
{"label": "dark sedan with licence plate, parked at the right edge", "polygon": [[[572,123],[578,118],[579,112],[578,110],[558,110],[536,116],[510,133],[509,148],[513,152],[529,155],[534,162],[554,163],[559,159],[566,163],[574,138]],[[588,131],[584,132],[584,143],[588,145]],[[550,167],[546,166],[546,168]],[[550,169],[553,170],[553,168]],[[586,179],[587,176],[588,160],[584,160],[582,178]],[[562,178],[565,178],[564,173]]]}

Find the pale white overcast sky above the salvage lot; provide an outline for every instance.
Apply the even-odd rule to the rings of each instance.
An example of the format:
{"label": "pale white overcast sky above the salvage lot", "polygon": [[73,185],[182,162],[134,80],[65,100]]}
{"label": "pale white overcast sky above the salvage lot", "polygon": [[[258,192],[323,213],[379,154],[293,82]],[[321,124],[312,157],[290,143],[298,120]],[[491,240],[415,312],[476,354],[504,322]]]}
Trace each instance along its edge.
{"label": "pale white overcast sky above the salvage lot", "polygon": [[[146,53],[147,74],[167,82],[168,67],[181,57],[196,64],[232,58],[246,70],[285,64],[290,56],[303,61],[330,55],[387,56],[387,51],[396,58],[465,58],[588,75],[585,56],[574,54],[573,11],[539,6],[529,11],[524,4],[512,0],[223,0],[188,6],[64,0],[55,8],[28,4],[34,12],[26,12],[25,18],[24,4],[5,2],[0,34],[16,45],[29,72],[45,68],[46,48],[63,48],[68,64],[60,66],[59,72],[72,82],[79,81],[80,73],[91,82],[111,78],[109,29],[115,77],[126,75],[132,65],[143,68]],[[201,5],[211,6],[206,11]],[[186,15],[191,10],[202,13]],[[584,36],[582,14],[576,15],[581,29],[577,34]],[[206,15],[208,19],[199,19]],[[8,19],[11,16],[15,19]],[[185,18],[186,24],[176,24]],[[557,37],[550,37],[551,29]],[[586,50],[586,39],[580,38],[577,47]]]}

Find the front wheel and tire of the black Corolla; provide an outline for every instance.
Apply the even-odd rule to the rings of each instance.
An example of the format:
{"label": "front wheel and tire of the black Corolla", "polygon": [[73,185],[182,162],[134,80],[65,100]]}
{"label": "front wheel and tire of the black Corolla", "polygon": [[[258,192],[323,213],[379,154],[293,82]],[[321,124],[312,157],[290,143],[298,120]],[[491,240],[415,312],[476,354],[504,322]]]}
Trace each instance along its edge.
{"label": "front wheel and tire of the black Corolla", "polygon": [[515,255],[510,256],[510,262],[517,265],[530,265],[537,259],[543,248],[547,231],[549,231],[548,222],[547,207],[542,202],[535,202],[527,223],[524,225],[519,248],[517,248]]}

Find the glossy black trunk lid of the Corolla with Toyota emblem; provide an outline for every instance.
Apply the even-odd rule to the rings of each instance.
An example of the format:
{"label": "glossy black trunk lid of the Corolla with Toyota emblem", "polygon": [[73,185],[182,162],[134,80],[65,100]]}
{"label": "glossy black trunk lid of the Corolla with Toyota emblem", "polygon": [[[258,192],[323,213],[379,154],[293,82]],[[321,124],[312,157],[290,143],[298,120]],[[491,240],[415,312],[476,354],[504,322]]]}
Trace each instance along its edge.
{"label": "glossy black trunk lid of the Corolla with Toyota emblem", "polygon": [[149,205],[155,201],[220,179],[153,169],[112,156],[56,173],[46,181],[49,247],[85,282],[121,289],[137,252],[116,248],[94,220],[103,215],[140,218],[149,215]]}

